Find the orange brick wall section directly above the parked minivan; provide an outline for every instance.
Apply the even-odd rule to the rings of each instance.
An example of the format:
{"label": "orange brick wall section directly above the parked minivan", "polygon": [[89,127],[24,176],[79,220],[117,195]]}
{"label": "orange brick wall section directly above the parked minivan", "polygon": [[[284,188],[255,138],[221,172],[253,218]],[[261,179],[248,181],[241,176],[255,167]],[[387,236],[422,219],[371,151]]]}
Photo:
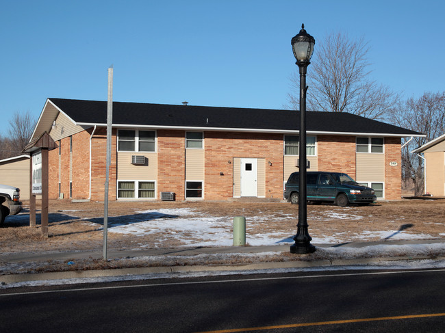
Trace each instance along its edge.
{"label": "orange brick wall section directly above the parked minivan", "polygon": [[355,178],[355,137],[318,135],[317,141],[318,170]]}

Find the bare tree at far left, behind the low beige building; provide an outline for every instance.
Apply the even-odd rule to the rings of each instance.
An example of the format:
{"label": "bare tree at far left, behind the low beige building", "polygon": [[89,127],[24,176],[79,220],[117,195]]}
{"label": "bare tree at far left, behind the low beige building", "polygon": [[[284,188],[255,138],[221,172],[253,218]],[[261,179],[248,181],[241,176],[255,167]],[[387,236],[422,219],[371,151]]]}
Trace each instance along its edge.
{"label": "bare tree at far left, behind the low beige building", "polygon": [[23,148],[29,143],[36,120],[29,111],[16,111],[9,123],[10,157],[13,157],[20,155]]}

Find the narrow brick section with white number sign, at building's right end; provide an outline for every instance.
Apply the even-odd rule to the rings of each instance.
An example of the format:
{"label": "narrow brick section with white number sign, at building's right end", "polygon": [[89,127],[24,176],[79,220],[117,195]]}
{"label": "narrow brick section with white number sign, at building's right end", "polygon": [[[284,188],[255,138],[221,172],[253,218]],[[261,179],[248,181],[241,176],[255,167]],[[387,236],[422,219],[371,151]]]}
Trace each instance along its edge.
{"label": "narrow brick section with white number sign, at building's right end", "polygon": [[[396,161],[396,166],[390,162]],[[398,200],[402,196],[401,138],[385,137],[385,199]]]}

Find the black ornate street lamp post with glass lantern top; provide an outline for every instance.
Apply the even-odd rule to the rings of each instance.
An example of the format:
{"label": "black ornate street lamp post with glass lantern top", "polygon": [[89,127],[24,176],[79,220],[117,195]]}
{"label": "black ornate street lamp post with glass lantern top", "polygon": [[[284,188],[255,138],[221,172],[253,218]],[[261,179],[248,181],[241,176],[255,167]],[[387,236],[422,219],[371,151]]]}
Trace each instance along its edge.
{"label": "black ornate street lamp post with glass lantern top", "polygon": [[312,253],[316,250],[311,244],[312,237],[307,231],[307,194],[306,194],[306,70],[310,64],[312,53],[314,52],[315,39],[307,34],[305,25],[301,25],[298,35],[294,36],[291,41],[292,51],[296,59],[296,65],[300,70],[300,134],[299,134],[299,196],[298,196],[298,224],[295,243],[290,247],[291,253],[304,254]]}

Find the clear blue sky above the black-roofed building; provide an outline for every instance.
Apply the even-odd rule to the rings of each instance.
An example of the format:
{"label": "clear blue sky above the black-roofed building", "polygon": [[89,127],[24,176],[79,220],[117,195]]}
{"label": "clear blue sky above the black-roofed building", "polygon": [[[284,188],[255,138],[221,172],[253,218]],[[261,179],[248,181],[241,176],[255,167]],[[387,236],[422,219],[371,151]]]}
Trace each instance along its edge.
{"label": "clear blue sky above the black-roofed building", "polygon": [[364,36],[373,78],[405,98],[442,92],[444,13],[442,0],[3,0],[0,134],[48,97],[106,101],[111,64],[114,101],[281,109],[301,23],[316,40]]}

